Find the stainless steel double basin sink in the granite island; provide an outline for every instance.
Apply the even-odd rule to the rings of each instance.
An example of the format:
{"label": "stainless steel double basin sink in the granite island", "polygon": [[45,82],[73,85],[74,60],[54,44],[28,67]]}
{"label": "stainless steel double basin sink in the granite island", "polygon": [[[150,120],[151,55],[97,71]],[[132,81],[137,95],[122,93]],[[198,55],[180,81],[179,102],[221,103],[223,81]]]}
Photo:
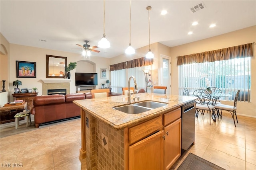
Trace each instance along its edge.
{"label": "stainless steel double basin sink in the granite island", "polygon": [[158,107],[166,106],[168,103],[161,103],[161,102],[155,102],[155,101],[142,101],[130,105],[125,106],[117,106],[113,109],[122,111],[124,113],[128,114],[138,114],[145,111],[149,111],[152,109],[156,109]]}

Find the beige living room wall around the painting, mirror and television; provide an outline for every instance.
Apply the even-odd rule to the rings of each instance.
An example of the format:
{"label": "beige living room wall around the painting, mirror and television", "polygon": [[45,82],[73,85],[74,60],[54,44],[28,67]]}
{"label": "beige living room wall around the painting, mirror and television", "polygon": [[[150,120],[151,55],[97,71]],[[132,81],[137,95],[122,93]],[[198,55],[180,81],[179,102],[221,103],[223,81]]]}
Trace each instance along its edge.
{"label": "beige living room wall around the painting, mirror and television", "polygon": [[[77,61],[84,61],[84,57],[80,54],[76,53],[67,53],[64,51],[54,51],[49,49],[42,49],[42,48],[36,48],[36,47],[29,47],[24,45],[17,45],[17,44],[10,44],[10,60],[9,60],[9,94],[14,93],[14,86],[12,86],[12,82],[14,80],[20,80],[22,81],[22,86],[19,86],[19,88],[38,88],[38,95],[42,95],[42,81],[41,79],[46,79],[46,55],[56,55],[61,57],[67,57],[67,64],[70,62],[77,62]],[[16,61],[30,61],[30,62],[36,62],[36,78],[16,78]],[[100,88],[100,84],[102,82],[106,82],[106,79],[100,78],[100,68],[107,68],[109,71],[109,59],[102,58],[102,57],[90,57],[90,62],[96,63],[94,68],[94,71],[98,73],[98,86],[97,88]],[[78,64],[78,70],[80,69],[80,65]],[[74,70],[71,70],[71,82],[70,82],[70,93],[75,93],[75,72],[76,68]],[[109,76],[109,74],[108,74]],[[10,95],[12,96],[12,95]],[[12,100],[12,98],[10,99]]]}

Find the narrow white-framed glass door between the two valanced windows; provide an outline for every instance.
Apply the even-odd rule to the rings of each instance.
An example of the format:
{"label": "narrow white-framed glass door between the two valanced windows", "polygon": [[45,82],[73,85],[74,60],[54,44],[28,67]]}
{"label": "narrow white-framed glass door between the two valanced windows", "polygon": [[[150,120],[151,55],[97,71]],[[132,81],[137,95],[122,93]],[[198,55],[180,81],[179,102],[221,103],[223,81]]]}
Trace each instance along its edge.
{"label": "narrow white-framed glass door between the two valanced windows", "polygon": [[168,56],[160,55],[160,86],[166,86],[166,94],[172,94],[171,92],[171,59]]}

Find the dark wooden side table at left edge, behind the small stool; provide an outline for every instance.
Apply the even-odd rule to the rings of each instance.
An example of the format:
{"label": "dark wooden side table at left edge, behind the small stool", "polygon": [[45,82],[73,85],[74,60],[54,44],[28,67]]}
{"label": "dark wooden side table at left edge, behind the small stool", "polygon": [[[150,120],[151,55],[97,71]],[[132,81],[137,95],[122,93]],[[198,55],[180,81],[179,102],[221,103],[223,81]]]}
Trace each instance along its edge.
{"label": "dark wooden side table at left edge, behind the small stool", "polygon": [[[0,124],[3,123],[9,123],[15,121],[14,116],[22,112],[24,110],[27,110],[28,103],[24,102],[22,105],[12,105],[12,106],[4,106],[0,108]],[[21,117],[20,120],[24,120],[25,117]]]}

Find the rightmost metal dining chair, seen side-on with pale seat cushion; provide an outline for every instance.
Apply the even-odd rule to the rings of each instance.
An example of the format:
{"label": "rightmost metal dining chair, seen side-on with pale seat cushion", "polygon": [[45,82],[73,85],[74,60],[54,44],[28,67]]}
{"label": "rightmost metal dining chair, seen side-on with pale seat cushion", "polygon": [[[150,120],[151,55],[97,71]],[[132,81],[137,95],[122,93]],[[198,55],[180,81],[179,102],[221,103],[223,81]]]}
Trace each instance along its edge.
{"label": "rightmost metal dining chair, seen side-on with pale seat cushion", "polygon": [[[236,116],[236,122],[235,122],[235,117],[234,116],[236,115],[236,103],[237,103],[237,100],[238,100],[239,93],[240,93],[240,90],[238,90],[236,92],[236,97],[234,99],[234,106],[230,106],[230,105],[226,105],[226,104],[216,104],[215,105],[215,109],[217,110],[218,118],[219,118],[219,116],[220,116],[220,118],[222,118],[222,110],[228,111],[232,115],[235,127],[236,127],[236,122],[238,123],[237,116]],[[220,113],[220,110],[221,110],[221,113]]]}

